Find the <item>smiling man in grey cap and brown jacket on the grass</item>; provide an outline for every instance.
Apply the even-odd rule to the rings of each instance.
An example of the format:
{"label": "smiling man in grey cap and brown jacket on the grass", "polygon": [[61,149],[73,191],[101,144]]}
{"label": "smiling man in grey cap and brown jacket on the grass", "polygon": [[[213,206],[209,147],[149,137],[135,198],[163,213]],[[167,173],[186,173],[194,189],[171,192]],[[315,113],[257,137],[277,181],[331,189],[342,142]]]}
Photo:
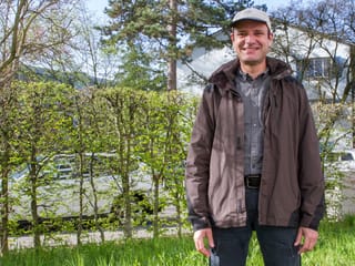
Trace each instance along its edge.
{"label": "smiling man in grey cap and brown jacket on the grass", "polygon": [[243,266],[255,231],[266,266],[298,266],[324,213],[312,111],[290,66],[266,57],[267,14],[245,9],[231,27],[237,59],[210,78],[186,160],[195,247],[210,265]]}

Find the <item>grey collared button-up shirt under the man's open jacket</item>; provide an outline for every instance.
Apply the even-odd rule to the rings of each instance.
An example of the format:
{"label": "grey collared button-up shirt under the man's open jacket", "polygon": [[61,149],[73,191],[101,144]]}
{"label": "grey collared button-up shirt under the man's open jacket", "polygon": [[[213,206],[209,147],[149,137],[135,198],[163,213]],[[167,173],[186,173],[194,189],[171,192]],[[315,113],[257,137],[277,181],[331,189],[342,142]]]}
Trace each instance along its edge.
{"label": "grey collared button-up shirt under the man's open jacket", "polygon": [[270,88],[268,70],[253,80],[239,71],[236,90],[244,103],[244,174],[261,174],[263,163],[264,123],[262,110],[265,93]]}

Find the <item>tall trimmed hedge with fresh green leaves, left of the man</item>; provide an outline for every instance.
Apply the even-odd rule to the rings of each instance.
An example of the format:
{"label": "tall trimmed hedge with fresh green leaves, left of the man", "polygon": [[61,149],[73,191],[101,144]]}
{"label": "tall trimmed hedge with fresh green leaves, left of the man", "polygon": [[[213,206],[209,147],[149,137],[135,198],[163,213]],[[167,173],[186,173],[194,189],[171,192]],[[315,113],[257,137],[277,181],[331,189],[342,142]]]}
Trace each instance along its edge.
{"label": "tall trimmed hedge with fresh green leaves, left of the man", "polygon": [[14,163],[3,200],[11,234],[34,233],[40,245],[41,234],[55,231],[77,231],[79,244],[92,228],[102,242],[103,229],[118,226],[126,237],[151,222],[156,236],[168,221],[182,231],[183,161],[196,99],[59,83],[14,82],[12,90]]}

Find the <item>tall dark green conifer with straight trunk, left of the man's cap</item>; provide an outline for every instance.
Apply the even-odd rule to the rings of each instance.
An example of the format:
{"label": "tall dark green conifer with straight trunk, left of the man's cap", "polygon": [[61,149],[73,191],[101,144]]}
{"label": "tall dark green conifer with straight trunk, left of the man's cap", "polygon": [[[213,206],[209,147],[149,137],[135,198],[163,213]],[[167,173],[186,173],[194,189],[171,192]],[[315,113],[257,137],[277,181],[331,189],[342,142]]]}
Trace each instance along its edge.
{"label": "tall dark green conifer with straight trunk, left of the man's cap", "polygon": [[223,45],[212,33],[220,29],[227,32],[234,12],[252,4],[252,1],[111,0],[105,10],[111,21],[103,33],[111,44],[139,45],[143,53],[163,61],[171,91],[176,89],[176,60],[187,60],[195,45],[206,49]]}

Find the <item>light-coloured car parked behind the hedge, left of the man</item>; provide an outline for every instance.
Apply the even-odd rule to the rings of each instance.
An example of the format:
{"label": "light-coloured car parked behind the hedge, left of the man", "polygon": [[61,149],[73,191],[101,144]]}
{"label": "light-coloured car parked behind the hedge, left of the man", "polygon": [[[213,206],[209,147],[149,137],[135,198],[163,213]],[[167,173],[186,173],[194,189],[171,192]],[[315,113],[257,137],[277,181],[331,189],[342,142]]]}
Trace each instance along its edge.
{"label": "light-coloured car parked behind the hedge, left of the man", "polygon": [[[118,214],[122,209],[122,180],[114,163],[115,154],[84,154],[83,165],[78,154],[58,154],[37,162],[38,213],[41,219],[72,218],[80,214],[82,184],[82,215],[92,217],[97,200],[98,214]],[[23,164],[11,174],[12,219],[31,221],[31,165]],[[81,178],[82,177],[82,178]],[[142,164],[130,173],[132,209],[152,212],[149,195],[152,190],[149,174]],[[120,217],[118,217],[120,218]]]}

